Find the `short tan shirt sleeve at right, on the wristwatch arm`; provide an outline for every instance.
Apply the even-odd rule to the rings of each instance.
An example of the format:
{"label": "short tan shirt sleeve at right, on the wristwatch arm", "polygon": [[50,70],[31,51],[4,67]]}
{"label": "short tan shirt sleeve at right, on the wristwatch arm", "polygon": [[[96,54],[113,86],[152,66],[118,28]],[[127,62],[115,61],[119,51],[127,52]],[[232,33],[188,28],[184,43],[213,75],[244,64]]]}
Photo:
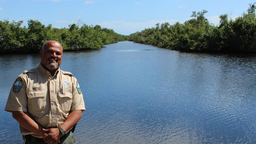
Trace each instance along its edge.
{"label": "short tan shirt sleeve at right, on the wristwatch arm", "polygon": [[78,81],[76,80],[75,77],[73,77],[72,79],[72,84],[73,84],[73,93],[72,93],[72,104],[71,104],[70,111],[71,112],[75,110],[84,111],[85,105],[84,105],[83,94],[78,84]]}

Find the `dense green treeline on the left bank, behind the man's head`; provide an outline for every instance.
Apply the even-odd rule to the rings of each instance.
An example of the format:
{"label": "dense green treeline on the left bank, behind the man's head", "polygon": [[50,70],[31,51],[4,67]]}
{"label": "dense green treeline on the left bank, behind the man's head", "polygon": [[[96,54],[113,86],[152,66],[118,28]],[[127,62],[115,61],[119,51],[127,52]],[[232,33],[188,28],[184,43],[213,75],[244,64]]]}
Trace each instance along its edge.
{"label": "dense green treeline on the left bank, behind the man's head", "polygon": [[112,29],[99,25],[69,28],[52,28],[42,25],[38,20],[28,20],[28,28],[21,27],[23,21],[0,21],[0,53],[38,52],[44,42],[56,40],[63,50],[81,50],[101,48],[104,44],[127,40],[127,36],[115,33]]}

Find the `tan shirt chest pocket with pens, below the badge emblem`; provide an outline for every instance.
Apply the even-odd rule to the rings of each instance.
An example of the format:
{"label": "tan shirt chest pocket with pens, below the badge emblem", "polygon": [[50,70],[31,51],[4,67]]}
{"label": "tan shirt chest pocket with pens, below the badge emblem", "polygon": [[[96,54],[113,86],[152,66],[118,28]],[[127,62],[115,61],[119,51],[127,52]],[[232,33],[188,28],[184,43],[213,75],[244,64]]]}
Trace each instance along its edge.
{"label": "tan shirt chest pocket with pens, below the badge emblem", "polygon": [[64,113],[68,113],[72,104],[72,93],[62,92],[58,94],[58,102],[61,110]]}

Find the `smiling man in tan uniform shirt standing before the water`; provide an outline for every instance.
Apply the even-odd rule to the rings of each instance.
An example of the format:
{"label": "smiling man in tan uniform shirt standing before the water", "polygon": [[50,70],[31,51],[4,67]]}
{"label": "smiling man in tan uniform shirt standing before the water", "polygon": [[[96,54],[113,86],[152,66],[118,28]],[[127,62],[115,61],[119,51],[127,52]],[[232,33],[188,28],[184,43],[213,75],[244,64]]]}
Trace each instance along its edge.
{"label": "smiling man in tan uniform shirt standing before the water", "polygon": [[23,143],[75,143],[71,129],[85,110],[76,78],[59,69],[62,46],[44,43],[41,63],[15,80],[5,110],[20,124]]}

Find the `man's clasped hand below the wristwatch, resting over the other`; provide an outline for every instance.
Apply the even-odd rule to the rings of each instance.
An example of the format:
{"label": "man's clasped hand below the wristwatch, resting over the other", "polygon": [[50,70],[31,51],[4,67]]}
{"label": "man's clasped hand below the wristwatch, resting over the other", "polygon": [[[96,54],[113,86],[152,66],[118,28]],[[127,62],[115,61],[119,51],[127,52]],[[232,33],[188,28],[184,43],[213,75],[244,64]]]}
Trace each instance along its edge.
{"label": "man's clasped hand below the wristwatch, resting over the other", "polygon": [[43,129],[44,132],[49,132],[46,136],[44,136],[44,142],[48,144],[57,144],[60,142],[60,130],[58,128],[51,129]]}

